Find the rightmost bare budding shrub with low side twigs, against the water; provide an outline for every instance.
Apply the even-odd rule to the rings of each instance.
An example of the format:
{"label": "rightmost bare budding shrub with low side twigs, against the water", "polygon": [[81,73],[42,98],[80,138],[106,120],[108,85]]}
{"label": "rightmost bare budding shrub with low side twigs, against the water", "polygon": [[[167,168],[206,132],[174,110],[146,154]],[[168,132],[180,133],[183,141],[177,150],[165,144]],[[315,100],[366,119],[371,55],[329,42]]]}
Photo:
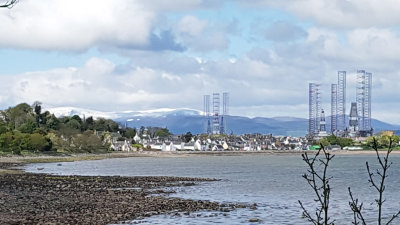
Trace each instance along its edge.
{"label": "rightmost bare budding shrub with low side twigs, against the water", "polygon": [[[373,173],[371,172],[370,166],[368,162],[366,162],[367,166],[367,171],[368,171],[368,182],[371,184],[371,187],[373,187],[378,193],[379,197],[375,199],[376,204],[378,205],[378,224],[382,225],[382,205],[385,202],[385,199],[383,198],[383,192],[385,191],[385,179],[388,177],[387,171],[392,165],[392,162],[389,162],[389,155],[393,151],[393,145],[394,141],[392,138],[389,139],[389,147],[388,150],[386,151],[386,155],[381,157],[381,155],[378,152],[378,141],[376,138],[373,139],[373,149],[375,150],[376,157],[378,159],[378,163],[380,168],[376,169],[376,172]],[[374,175],[377,175],[376,178]],[[349,202],[350,208],[353,211],[354,214],[354,222],[353,224],[363,224],[365,225],[366,222],[364,220],[364,217],[362,215],[362,207],[363,203],[358,203],[358,199],[355,199],[353,197],[353,193],[351,192],[351,189],[349,187],[349,195],[351,201]],[[392,215],[392,217],[389,219],[386,225],[391,224],[394,219],[396,219],[400,215],[400,211],[398,211],[396,214]]]}

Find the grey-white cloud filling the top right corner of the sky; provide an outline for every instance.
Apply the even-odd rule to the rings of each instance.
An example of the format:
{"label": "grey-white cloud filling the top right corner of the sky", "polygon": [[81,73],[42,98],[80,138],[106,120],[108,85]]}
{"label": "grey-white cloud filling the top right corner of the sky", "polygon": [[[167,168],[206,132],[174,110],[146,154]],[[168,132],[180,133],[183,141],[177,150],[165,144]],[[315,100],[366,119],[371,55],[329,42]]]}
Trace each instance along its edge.
{"label": "grey-white cloud filling the top right corner of the sky", "polygon": [[318,25],[335,28],[390,27],[400,23],[400,4],[396,0],[254,0],[241,3],[249,7],[284,9]]}

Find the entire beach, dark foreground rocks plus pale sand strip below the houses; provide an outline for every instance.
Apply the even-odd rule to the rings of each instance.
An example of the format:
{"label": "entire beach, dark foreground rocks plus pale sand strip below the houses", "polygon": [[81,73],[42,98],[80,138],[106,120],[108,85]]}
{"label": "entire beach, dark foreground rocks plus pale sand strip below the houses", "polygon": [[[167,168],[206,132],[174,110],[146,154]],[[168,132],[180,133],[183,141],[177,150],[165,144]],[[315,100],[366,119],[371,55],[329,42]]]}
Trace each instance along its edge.
{"label": "entire beach, dark foreground rocks plus pale sand strip below the houses", "polygon": [[[316,151],[307,151],[315,153]],[[373,155],[374,151],[331,151],[337,155]],[[262,152],[134,152],[66,156],[0,157],[0,224],[83,223],[115,224],[160,214],[183,215],[198,211],[229,212],[249,207],[220,201],[191,200],[169,195],[173,187],[193,186],[217,179],[173,176],[75,176],[27,173],[27,163],[99,160],[109,158],[212,157],[298,155],[304,151]],[[393,152],[398,154],[400,152]],[[203,157],[202,157],[203,156]],[[149,159],[150,159],[149,158]],[[218,157],[219,158],[219,157]],[[225,158],[225,157],[224,157]],[[240,157],[241,158],[241,157]],[[297,158],[297,157],[295,157]],[[144,158],[143,158],[144,159]],[[217,158],[215,158],[217,159]],[[285,157],[286,159],[286,157]],[[40,164],[38,172],[41,172]],[[36,169],[35,169],[36,170]],[[139,173],[140,174],[140,173]],[[192,174],[192,173],[190,173]],[[192,175],[187,176],[192,176]],[[195,176],[195,175],[193,175]]]}

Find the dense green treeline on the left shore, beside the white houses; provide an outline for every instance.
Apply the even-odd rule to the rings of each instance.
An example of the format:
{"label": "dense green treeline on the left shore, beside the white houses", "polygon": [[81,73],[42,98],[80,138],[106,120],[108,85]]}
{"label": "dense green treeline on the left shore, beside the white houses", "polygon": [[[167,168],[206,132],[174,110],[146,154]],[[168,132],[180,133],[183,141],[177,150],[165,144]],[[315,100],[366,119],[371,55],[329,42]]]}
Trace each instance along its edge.
{"label": "dense green treeline on the left shore, beside the white houses", "polygon": [[[103,136],[119,132],[123,137],[133,137],[135,129],[120,129],[119,124],[110,119],[78,115],[57,118],[48,111],[42,112],[40,102],[32,106],[21,103],[0,111],[0,151],[13,154],[28,152],[104,152],[107,146]],[[127,135],[127,136],[126,136]]]}

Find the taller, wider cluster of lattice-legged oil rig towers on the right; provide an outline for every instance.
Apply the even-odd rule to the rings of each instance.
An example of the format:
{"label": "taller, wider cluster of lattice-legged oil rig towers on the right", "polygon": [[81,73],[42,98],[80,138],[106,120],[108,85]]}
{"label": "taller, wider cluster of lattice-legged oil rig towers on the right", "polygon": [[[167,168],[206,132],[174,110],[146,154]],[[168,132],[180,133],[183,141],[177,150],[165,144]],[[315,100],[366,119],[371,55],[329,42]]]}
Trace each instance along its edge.
{"label": "taller, wider cluster of lattice-legged oil rig towers on the right", "polygon": [[[338,71],[337,83],[331,84],[330,134],[340,137],[368,137],[373,135],[371,126],[372,73],[357,70],[356,99],[351,102],[346,116],[346,71]],[[348,121],[348,122],[347,122]],[[321,84],[309,84],[308,136],[328,136],[325,112],[321,106]]]}

